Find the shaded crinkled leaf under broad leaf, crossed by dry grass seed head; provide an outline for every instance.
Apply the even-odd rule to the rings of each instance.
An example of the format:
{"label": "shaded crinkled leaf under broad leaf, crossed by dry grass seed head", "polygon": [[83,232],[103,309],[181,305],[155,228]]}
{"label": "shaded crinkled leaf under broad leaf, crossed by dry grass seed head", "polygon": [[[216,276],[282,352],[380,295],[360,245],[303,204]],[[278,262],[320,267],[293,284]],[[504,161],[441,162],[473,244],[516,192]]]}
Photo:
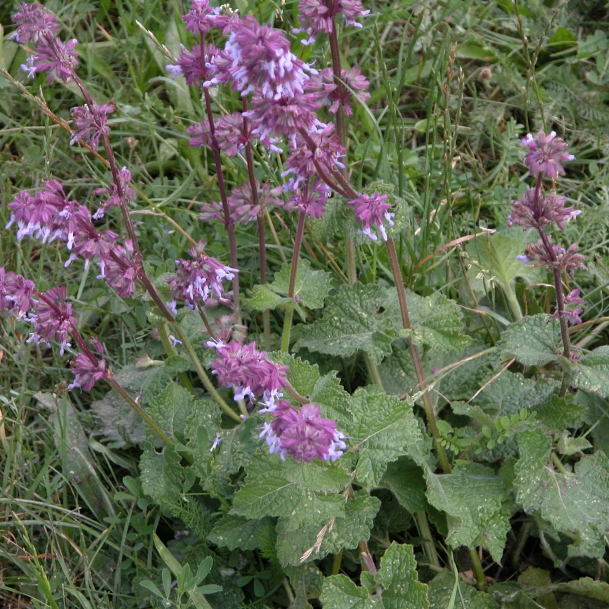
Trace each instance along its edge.
{"label": "shaded crinkled leaf under broad leaf, crossed by dry grass seed head", "polygon": [[332,526],[322,522],[294,530],[291,518],[280,518],[277,523],[277,557],[281,565],[299,565],[305,552],[315,546],[323,527],[326,530],[320,551],[311,552],[306,561],[336,554],[343,547],[356,548],[359,541],[370,538],[370,529],[380,506],[379,499],[368,495],[349,499],[345,503],[344,517],[334,519]]}

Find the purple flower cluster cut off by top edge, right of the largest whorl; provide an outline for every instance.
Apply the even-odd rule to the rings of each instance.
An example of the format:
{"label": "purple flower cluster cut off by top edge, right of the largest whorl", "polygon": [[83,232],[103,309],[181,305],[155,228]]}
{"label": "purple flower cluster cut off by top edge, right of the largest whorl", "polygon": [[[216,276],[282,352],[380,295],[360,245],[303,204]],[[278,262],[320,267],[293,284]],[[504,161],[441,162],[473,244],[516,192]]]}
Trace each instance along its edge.
{"label": "purple flower cluster cut off by top edge, right of the largest whorl", "polygon": [[333,32],[334,18],[340,13],[345,18],[345,23],[354,27],[362,27],[355,20],[356,17],[370,13],[369,10],[364,10],[361,0],[300,0],[298,9],[302,27],[294,29],[294,33],[308,33],[309,38],[303,40],[303,44],[314,43],[315,36],[320,32]]}

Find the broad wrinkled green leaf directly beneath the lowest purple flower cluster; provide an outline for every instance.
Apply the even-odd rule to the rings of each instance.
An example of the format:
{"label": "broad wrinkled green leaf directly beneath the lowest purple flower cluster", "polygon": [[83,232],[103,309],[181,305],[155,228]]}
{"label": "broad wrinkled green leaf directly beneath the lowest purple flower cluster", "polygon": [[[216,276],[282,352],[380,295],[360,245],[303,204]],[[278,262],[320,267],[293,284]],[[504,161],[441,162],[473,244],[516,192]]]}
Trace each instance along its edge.
{"label": "broad wrinkled green leaf directly beneath the lowest purple flower cluster", "polygon": [[332,463],[282,461],[276,455],[256,454],[245,485],[234,496],[231,513],[245,518],[290,514],[290,527],[295,530],[343,517],[345,499],[337,493],[350,482],[351,476]]}

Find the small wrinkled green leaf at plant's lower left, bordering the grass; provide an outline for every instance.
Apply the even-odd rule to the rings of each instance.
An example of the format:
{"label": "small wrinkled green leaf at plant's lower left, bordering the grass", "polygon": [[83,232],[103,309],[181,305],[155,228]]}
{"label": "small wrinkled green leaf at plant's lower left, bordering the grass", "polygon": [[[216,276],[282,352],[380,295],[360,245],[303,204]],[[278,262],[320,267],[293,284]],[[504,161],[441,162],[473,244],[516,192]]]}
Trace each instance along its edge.
{"label": "small wrinkled green leaf at plant's lower left, bordering the grass", "polygon": [[142,489],[153,501],[162,504],[164,498],[180,496],[184,469],[181,457],[171,444],[157,452],[150,442],[144,442],[144,452],[139,458]]}

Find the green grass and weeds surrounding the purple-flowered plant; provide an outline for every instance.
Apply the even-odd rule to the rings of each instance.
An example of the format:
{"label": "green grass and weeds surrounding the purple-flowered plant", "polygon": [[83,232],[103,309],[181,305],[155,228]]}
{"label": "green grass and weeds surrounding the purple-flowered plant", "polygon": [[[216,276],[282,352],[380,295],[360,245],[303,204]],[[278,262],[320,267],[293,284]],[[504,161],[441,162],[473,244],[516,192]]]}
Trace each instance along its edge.
{"label": "green grass and weeds surrounding the purple-flowered plant", "polygon": [[[373,180],[393,184],[408,206],[408,238],[398,244],[406,283],[420,294],[443,290],[451,297],[460,295],[460,303],[473,306],[462,290],[468,259],[462,266],[459,248],[427,258],[481,227],[505,227],[510,199],[523,185],[523,171],[513,169],[518,138],[525,130],[554,127],[577,157],[561,188],[582,209],[564,239],[578,241],[588,257],[588,273],[578,276],[588,294],[585,320],[608,315],[605,4],[524,3],[519,11],[527,46],[507,0],[364,4],[374,15],[365,19],[362,30],[342,37],[342,48],[348,49],[345,63],[362,66],[372,94],[369,107],[357,107],[348,122],[350,169],[358,185]],[[0,6],[5,35],[12,31],[15,5]],[[297,14],[297,2],[290,0],[238,0],[236,5],[286,29]],[[129,167],[141,191],[138,208],[166,214],[195,240],[205,239],[209,253],[226,259],[224,232],[197,220],[198,203],[219,198],[213,158],[189,149],[184,138],[185,127],[202,116],[199,96],[167,79],[166,58],[136,24],[143,24],[175,54],[180,41],[188,40],[179,21],[181,2],[55,0],[47,6],[60,15],[69,37],[79,39],[80,74],[96,100],[114,99],[118,105],[111,121],[112,141],[119,163]],[[296,52],[305,58],[314,53],[316,65],[329,63],[329,51],[321,44],[314,51],[296,47]],[[15,43],[0,44],[0,67],[20,82],[24,76],[19,64],[25,57]],[[38,77],[27,86],[65,120],[69,108],[82,103],[71,84],[49,86]],[[227,94],[217,99],[227,110],[237,108],[238,101]],[[7,205],[13,194],[35,189],[51,176],[63,181],[72,197],[95,208],[98,198],[93,191],[99,183],[108,183],[109,172],[85,150],[70,148],[68,141],[62,128],[0,76],[2,227],[9,219]],[[259,163],[267,161],[258,158]],[[269,169],[279,182],[281,167],[273,164]],[[244,177],[242,161],[228,161],[228,185],[241,185]],[[162,216],[135,219],[141,220],[138,231],[152,275],[171,272],[172,261],[188,248],[186,238]],[[273,222],[279,245],[267,235],[267,259],[275,271],[281,267],[282,254],[288,259],[291,255],[295,220],[277,214]],[[107,214],[107,228],[120,224],[117,213]],[[345,270],[340,231],[338,224],[318,222],[314,236],[306,234],[303,248],[312,267],[333,273],[337,284],[342,276],[326,251]],[[363,239],[358,244],[362,281],[390,283],[382,248]],[[244,290],[258,283],[257,248],[255,227],[240,228]],[[121,301],[95,279],[96,269],[85,271],[80,263],[65,268],[63,262],[65,252],[55,243],[17,242],[13,230],[0,231],[0,266],[36,280],[40,289],[65,283],[78,305],[83,332],[102,337],[114,369],[133,364],[144,353],[153,359],[163,354],[160,342],[150,336],[146,300]],[[468,318],[470,329],[479,326],[481,336],[487,325],[502,329],[497,320],[510,319],[499,292],[481,299],[496,315],[484,323]],[[532,309],[544,309],[543,286],[527,294]],[[279,315],[272,316],[272,325],[277,345]],[[595,331],[596,326],[590,323],[576,340],[585,340],[588,348],[606,342],[607,334]],[[253,319],[250,334],[261,333],[261,327],[261,318]],[[188,528],[192,534],[196,517],[191,515],[189,521],[185,513],[183,521],[167,518],[141,491],[135,495],[137,501],[132,499],[138,491],[139,451],[122,440],[117,429],[110,434],[100,424],[99,410],[91,409],[105,390],[96,387],[91,395],[72,392],[70,402],[63,396],[70,378],[69,357],[60,356],[55,348],[30,347],[26,334],[24,323],[0,319],[0,604],[4,599],[6,607],[148,607],[150,594],[139,582],[158,582],[163,568],[153,532],[168,543],[175,530]],[[365,375],[362,362],[341,365],[347,385]],[[125,487],[125,476],[133,480],[133,488]],[[190,547],[175,541],[172,546],[182,557]],[[285,600],[280,593],[281,588],[273,602]],[[263,598],[256,603],[250,598],[247,606],[262,607],[266,602],[271,601]],[[460,606],[458,595],[454,606]]]}

